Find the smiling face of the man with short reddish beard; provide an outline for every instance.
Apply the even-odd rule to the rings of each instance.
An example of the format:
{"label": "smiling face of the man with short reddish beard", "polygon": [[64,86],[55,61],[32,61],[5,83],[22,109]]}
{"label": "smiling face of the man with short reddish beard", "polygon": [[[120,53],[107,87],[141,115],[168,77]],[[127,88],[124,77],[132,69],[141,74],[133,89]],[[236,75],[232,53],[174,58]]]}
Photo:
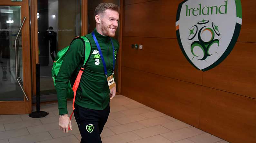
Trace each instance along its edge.
{"label": "smiling face of the man with short reddish beard", "polygon": [[103,35],[114,37],[118,27],[119,13],[110,9],[100,14],[100,30]]}

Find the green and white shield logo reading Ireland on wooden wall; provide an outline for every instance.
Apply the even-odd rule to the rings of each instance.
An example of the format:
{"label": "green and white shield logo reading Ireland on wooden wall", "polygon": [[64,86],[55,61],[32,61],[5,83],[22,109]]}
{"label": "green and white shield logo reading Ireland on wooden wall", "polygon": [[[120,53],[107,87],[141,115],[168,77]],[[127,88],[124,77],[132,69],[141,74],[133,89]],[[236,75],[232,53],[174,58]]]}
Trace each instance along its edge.
{"label": "green and white shield logo reading Ireland on wooden wall", "polygon": [[229,55],[241,25],[241,0],[184,0],[178,6],[178,43],[186,59],[202,71]]}

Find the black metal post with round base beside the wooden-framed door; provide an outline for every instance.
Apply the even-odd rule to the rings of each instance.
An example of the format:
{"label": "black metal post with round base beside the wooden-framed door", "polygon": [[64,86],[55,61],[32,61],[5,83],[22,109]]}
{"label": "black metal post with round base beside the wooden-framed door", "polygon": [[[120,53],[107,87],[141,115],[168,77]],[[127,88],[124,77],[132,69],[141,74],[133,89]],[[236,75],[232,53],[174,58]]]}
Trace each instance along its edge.
{"label": "black metal post with round base beside the wooden-framed door", "polygon": [[32,118],[42,118],[48,112],[40,111],[40,64],[36,64],[36,111],[29,114]]}

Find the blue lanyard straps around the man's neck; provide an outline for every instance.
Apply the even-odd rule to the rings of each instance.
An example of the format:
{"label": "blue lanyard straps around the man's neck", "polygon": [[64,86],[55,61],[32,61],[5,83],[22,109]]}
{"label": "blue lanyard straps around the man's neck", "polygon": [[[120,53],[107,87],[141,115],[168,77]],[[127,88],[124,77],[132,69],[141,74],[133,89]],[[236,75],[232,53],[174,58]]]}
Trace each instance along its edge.
{"label": "blue lanyard straps around the man's neck", "polygon": [[[101,49],[100,49],[100,44],[99,44],[99,42],[98,42],[94,32],[92,32],[91,34],[92,34],[92,37],[93,37],[93,39],[95,41],[95,44],[96,44],[96,46],[98,48],[98,51],[100,53],[100,58],[102,60],[102,64],[103,64],[103,67],[104,67],[104,73],[105,73],[106,77],[108,77],[108,71],[107,71],[107,68],[106,68],[105,60],[103,58],[103,54],[102,54]],[[114,52],[114,44],[113,44],[111,38],[110,38],[110,42],[111,42],[112,48],[113,48],[113,74],[114,74],[114,70],[115,70],[115,52]]]}

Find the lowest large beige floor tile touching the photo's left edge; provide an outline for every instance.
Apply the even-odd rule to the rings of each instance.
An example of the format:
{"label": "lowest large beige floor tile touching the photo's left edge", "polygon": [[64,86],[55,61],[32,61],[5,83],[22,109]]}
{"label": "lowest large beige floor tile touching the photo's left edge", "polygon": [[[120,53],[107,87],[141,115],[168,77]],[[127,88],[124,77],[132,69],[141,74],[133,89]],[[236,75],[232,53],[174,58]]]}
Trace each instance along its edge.
{"label": "lowest large beige floor tile touching the photo's left edge", "polygon": [[26,128],[14,129],[10,131],[0,132],[0,139],[7,139],[7,138],[13,138],[13,137],[19,137],[19,136],[25,136],[25,135],[29,135],[29,132]]}

